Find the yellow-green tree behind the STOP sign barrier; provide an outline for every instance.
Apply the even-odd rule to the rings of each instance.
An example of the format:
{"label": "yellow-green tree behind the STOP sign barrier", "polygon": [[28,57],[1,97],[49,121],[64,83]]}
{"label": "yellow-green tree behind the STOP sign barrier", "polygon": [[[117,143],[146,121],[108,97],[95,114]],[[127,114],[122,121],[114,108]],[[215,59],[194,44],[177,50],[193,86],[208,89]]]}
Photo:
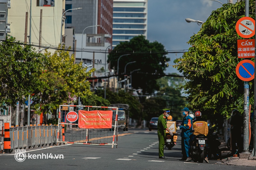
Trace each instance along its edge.
{"label": "yellow-green tree behind the STOP sign barrier", "polygon": [[[45,82],[41,91],[36,91],[33,107],[36,113],[55,113],[61,104],[74,102],[74,97],[92,95],[90,83],[86,81],[90,77],[91,69],[80,64],[74,64],[74,56],[69,56],[68,51],[59,49],[51,55],[45,52],[44,72],[40,79]],[[54,114],[53,114],[54,115]]]}

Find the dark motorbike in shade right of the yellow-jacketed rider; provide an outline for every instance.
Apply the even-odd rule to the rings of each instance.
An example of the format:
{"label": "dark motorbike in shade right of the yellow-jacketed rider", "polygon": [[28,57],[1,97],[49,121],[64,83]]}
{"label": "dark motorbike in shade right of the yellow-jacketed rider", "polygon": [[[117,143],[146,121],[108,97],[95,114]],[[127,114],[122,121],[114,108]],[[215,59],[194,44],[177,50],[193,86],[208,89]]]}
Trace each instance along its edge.
{"label": "dark motorbike in shade right of the yellow-jacketed rider", "polygon": [[214,159],[220,160],[221,159],[221,151],[220,151],[220,141],[217,134],[213,134],[214,130],[216,130],[215,124],[208,130],[207,135],[207,146],[206,146],[206,152],[209,159],[211,159],[211,156],[214,156]]}

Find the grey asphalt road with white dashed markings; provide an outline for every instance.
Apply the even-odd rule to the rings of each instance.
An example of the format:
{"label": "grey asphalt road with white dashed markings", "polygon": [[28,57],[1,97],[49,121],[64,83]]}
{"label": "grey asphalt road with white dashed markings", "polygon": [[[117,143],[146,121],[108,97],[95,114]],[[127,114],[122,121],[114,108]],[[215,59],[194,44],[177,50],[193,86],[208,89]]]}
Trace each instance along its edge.
{"label": "grey asphalt road with white dashed markings", "polygon": [[[177,145],[172,150],[164,150],[164,155],[168,159],[163,160],[158,158],[158,136],[156,130],[129,129],[128,132],[119,131],[119,135],[118,148],[115,146],[111,148],[108,145],[68,144],[29,149],[23,162],[16,161],[14,153],[0,154],[1,169],[255,169],[255,167],[226,165],[220,160],[209,160],[209,163],[179,161],[182,157],[180,136],[178,136]],[[41,156],[42,154],[51,154],[53,157],[33,159],[33,155]],[[61,154],[64,158],[60,158]],[[55,158],[55,155],[58,158]]]}

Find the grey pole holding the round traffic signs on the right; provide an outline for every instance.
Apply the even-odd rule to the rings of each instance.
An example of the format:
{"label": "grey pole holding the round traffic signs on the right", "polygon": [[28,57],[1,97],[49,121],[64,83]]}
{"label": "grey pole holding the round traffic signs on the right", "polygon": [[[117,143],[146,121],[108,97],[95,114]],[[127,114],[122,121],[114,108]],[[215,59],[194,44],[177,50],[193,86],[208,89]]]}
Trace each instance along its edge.
{"label": "grey pole holding the round traffic signs on the right", "polygon": [[[245,16],[249,16],[249,0],[245,0]],[[244,139],[243,152],[239,158],[248,158],[249,152],[249,82],[244,82]]]}

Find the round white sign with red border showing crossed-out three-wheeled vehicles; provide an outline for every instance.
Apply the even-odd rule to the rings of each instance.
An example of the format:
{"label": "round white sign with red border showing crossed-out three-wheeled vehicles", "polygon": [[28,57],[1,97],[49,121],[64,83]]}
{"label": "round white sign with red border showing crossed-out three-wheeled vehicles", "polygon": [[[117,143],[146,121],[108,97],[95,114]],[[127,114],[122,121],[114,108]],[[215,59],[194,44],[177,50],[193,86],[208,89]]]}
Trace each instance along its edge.
{"label": "round white sign with red border showing crossed-out three-wheeled vehicles", "polygon": [[255,20],[245,16],[236,22],[236,32],[240,37],[251,38],[255,34]]}

